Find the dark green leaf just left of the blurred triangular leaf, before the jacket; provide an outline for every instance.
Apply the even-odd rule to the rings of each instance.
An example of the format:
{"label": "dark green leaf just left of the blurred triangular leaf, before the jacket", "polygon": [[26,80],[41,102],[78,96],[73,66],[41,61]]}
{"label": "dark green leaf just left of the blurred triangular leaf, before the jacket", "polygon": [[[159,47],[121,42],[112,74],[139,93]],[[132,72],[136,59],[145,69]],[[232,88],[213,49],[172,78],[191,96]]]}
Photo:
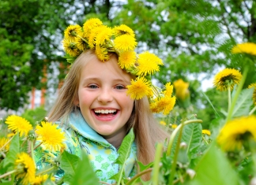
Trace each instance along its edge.
{"label": "dark green leaf just left of the blurred triangular leaf, before the jacket", "polygon": [[70,182],[70,180],[73,178],[76,172],[75,169],[77,168],[77,165],[80,163],[80,161],[81,159],[76,155],[70,154],[67,151],[62,153],[60,168],[62,168],[62,170],[65,172],[65,182]]}

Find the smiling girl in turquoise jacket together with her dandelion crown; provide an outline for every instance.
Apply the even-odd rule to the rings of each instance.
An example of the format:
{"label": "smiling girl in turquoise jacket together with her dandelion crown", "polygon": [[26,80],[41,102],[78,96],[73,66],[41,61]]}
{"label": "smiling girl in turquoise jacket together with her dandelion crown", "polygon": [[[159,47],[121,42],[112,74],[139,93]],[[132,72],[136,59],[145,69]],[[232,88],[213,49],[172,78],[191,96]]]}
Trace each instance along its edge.
{"label": "smiling girl in turquoise jacket together with her dandelion crown", "polygon": [[[145,71],[142,72],[142,76],[136,73],[135,69],[140,65],[138,59],[135,58],[131,67],[126,65],[127,62],[123,63],[122,54],[126,51],[134,52],[134,49],[131,49],[133,47],[125,46],[124,48],[128,49],[124,50],[116,41],[115,44],[112,43],[111,48],[104,50],[100,55],[96,38],[100,35],[99,30],[104,30],[106,27],[101,27],[100,20],[92,20],[85,22],[81,30],[76,26],[66,30],[66,37],[70,36],[71,39],[66,38],[70,40],[69,44],[64,39],[64,50],[70,55],[74,54],[72,52],[77,52],[76,47],[71,47],[73,43],[78,42],[72,40],[72,35],[78,35],[80,31],[88,31],[91,35],[93,31],[96,33],[94,33],[94,43],[90,44],[89,35],[84,37],[85,44],[91,49],[76,54],[79,56],[73,61],[48,119],[51,122],[60,120],[63,124],[62,127],[65,128],[68,138],[68,151],[71,154],[81,157],[81,151],[85,149],[100,181],[113,183],[109,178],[119,172],[119,165],[115,164],[115,160],[119,155],[119,146],[130,128],[134,128],[135,140],[125,164],[126,177],[134,176],[137,171],[136,161],[146,165],[154,160],[156,142],[164,142],[168,134],[160,128],[152,112],[156,112],[156,108],[157,112],[169,112],[175,104],[175,98],[171,98],[170,84],[166,85],[164,93],[158,93],[162,93],[162,97],[153,97],[150,89],[152,83],[144,79]],[[98,29],[99,27],[101,28]],[[99,46],[107,48],[109,46],[107,42],[112,42],[112,35],[115,35],[116,39],[122,35],[134,37],[130,28],[124,27],[120,30],[121,35],[117,34],[119,30],[110,31],[109,38],[106,37],[104,43],[101,42]],[[115,50],[113,45],[116,46]],[[153,61],[160,63],[155,55],[146,57],[152,57]],[[149,61],[148,65],[150,65]],[[132,70],[134,72],[131,72]],[[150,70],[149,75],[152,74]],[[145,175],[144,179],[149,179],[149,174]]]}

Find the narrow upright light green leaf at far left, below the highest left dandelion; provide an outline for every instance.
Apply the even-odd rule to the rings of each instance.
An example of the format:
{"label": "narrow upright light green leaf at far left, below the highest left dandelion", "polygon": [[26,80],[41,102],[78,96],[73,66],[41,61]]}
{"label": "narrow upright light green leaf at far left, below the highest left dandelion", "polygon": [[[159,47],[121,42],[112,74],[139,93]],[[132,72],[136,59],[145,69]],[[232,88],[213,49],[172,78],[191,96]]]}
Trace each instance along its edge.
{"label": "narrow upright light green leaf at far left, below the highest left dandelion", "polygon": [[12,141],[9,144],[9,152],[4,159],[3,168],[6,168],[7,165],[14,165],[17,158],[17,154],[20,151],[20,137],[17,133],[13,136]]}

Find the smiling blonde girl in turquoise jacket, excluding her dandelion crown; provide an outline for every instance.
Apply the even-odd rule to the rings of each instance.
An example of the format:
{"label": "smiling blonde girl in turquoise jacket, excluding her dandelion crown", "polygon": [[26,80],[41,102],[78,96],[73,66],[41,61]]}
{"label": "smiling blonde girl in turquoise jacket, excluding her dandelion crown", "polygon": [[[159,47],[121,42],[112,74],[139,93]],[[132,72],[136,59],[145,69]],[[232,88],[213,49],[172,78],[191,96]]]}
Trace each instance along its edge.
{"label": "smiling blonde girl in turquoise jacket, excluding her dandelion crown", "polygon": [[117,151],[130,128],[135,140],[125,165],[126,177],[134,176],[136,160],[144,165],[153,161],[156,142],[164,142],[168,134],[154,119],[147,96],[134,100],[127,94],[136,76],[120,68],[119,52],[109,51],[104,57],[103,62],[95,49],[79,54],[48,120],[61,120],[68,151],[80,156],[85,149],[100,181],[113,183],[109,178],[119,171],[119,165],[114,165]]}

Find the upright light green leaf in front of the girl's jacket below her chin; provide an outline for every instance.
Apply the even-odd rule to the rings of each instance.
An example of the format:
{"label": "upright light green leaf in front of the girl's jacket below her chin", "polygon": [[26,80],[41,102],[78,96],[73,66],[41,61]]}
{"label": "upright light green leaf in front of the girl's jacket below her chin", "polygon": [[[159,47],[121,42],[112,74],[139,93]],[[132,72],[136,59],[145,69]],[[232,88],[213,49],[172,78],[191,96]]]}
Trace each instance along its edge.
{"label": "upright light green leaf in front of the girl's jacket below her chin", "polygon": [[120,170],[117,174],[114,176],[111,176],[111,179],[115,179],[117,181],[117,184],[120,184],[122,179],[122,173],[124,172],[125,168],[125,161],[130,156],[130,150],[131,146],[134,142],[134,129],[131,128],[130,132],[126,137],[122,140],[122,144],[119,148],[119,157],[116,159],[115,163],[120,165]]}

